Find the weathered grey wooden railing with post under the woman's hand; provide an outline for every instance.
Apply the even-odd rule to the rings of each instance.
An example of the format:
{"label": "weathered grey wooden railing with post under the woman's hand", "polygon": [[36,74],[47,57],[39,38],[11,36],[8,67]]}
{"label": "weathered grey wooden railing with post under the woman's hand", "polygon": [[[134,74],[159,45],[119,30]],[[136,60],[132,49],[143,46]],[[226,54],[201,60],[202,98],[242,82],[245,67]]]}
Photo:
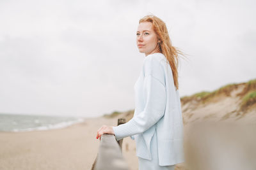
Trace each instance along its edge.
{"label": "weathered grey wooden railing with post under the woman's hand", "polygon": [[[118,125],[124,123],[124,118],[118,119]],[[122,141],[123,139],[116,141],[113,134],[102,134],[92,170],[129,170],[122,155]]]}

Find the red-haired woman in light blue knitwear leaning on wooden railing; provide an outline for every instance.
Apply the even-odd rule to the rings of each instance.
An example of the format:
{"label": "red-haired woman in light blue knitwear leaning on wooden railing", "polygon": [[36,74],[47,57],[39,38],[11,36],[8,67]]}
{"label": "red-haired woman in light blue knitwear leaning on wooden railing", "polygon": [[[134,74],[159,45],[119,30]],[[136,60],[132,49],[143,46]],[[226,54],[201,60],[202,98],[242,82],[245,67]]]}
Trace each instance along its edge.
{"label": "red-haired woman in light blue knitwear leaning on wooden railing", "polygon": [[145,53],[140,77],[134,85],[135,110],[129,122],[97,131],[130,136],[136,141],[139,169],[174,169],[184,162],[183,124],[178,83],[178,54],[164,22],[154,15],[140,19],[137,45]]}

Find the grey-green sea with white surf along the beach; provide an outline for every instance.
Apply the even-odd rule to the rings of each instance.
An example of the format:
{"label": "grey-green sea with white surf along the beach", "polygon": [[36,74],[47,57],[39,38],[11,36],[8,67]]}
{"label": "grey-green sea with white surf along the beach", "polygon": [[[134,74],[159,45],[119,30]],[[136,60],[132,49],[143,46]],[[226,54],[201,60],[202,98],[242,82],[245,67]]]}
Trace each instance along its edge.
{"label": "grey-green sea with white surf along the beach", "polygon": [[81,122],[84,122],[84,118],[0,113],[0,131],[2,132],[46,131],[61,129]]}

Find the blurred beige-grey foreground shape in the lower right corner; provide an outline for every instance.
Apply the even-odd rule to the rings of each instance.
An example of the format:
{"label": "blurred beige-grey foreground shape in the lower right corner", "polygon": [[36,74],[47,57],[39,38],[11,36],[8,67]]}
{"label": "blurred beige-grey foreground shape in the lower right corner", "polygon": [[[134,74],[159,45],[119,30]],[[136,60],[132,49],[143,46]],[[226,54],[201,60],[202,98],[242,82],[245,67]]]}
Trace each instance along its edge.
{"label": "blurred beige-grey foreground shape in the lower right corner", "polygon": [[256,125],[200,122],[186,127],[186,169],[256,169]]}

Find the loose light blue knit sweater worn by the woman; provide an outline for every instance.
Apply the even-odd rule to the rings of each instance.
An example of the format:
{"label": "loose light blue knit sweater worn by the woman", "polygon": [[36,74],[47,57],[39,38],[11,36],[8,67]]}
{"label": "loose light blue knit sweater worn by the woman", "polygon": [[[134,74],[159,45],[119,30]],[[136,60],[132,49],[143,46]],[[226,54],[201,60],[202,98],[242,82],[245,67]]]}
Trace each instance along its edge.
{"label": "loose light blue knit sweater worn by the woman", "polygon": [[134,117],[113,127],[116,140],[130,136],[136,141],[136,155],[151,160],[150,141],[156,129],[159,166],[184,162],[179,90],[175,88],[172,69],[163,53],[145,57],[134,90]]}

